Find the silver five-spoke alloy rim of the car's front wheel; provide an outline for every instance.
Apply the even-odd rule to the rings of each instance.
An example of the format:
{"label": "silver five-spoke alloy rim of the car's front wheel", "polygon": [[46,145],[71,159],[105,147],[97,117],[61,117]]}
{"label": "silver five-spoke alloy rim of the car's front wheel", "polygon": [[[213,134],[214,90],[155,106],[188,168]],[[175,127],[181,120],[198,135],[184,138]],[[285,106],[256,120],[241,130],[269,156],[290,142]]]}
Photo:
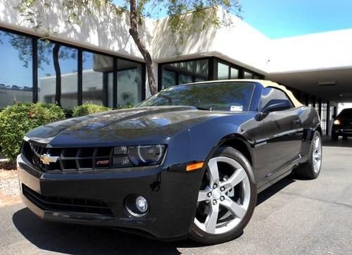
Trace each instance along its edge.
{"label": "silver five-spoke alloy rim of the car's front wheel", "polygon": [[232,158],[217,156],[208,162],[204,176],[194,224],[213,235],[229,232],[249,208],[251,187],[246,170]]}

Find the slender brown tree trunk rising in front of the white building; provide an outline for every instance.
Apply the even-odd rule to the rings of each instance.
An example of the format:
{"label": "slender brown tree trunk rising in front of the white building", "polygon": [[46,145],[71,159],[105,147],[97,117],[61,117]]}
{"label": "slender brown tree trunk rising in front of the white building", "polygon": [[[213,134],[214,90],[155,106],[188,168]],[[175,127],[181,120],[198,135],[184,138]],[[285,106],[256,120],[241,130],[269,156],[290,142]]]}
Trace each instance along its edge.
{"label": "slender brown tree trunk rising in front of the white building", "polygon": [[137,45],[139,51],[141,52],[144,61],[146,61],[146,73],[148,74],[148,83],[151,94],[156,94],[158,89],[156,87],[155,77],[153,73],[153,61],[151,59],[151,54],[149,54],[146,46],[144,46],[142,40],[139,38],[136,0],[130,0],[130,35],[132,36],[134,43]]}

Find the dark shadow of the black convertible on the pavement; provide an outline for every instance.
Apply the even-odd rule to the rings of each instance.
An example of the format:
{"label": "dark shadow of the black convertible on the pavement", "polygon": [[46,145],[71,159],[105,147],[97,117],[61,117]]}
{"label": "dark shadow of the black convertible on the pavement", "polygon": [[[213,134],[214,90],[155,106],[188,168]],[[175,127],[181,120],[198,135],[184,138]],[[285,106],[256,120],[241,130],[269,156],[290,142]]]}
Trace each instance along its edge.
{"label": "dark shadow of the black convertible on the pavement", "polygon": [[[260,192],[257,206],[293,182],[287,177]],[[161,242],[111,228],[52,223],[27,208],[15,212],[12,220],[15,228],[39,249],[65,254],[181,254],[177,247],[204,246],[191,240]]]}

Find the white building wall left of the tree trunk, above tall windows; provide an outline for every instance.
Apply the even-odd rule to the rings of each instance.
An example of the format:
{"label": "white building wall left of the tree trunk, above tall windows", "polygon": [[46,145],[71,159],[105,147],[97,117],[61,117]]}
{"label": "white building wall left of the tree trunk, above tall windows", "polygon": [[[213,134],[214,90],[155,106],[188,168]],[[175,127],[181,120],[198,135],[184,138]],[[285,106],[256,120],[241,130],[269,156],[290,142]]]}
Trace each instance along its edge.
{"label": "white building wall left of the tree trunk, above tall windows", "polygon": [[[24,20],[15,10],[20,0],[0,0],[0,24],[1,26],[37,35],[32,30],[32,25]],[[68,15],[59,8],[60,0],[55,0],[53,8],[48,11],[44,26],[48,26],[52,32],[51,39],[59,42],[67,42],[88,49],[104,51],[109,54],[125,56],[141,61],[142,55],[135,46],[132,37],[128,33],[129,19],[127,15],[116,17],[110,11],[96,11],[94,15],[87,15],[82,20],[82,25],[71,25],[65,20]],[[144,42],[150,47],[151,30],[153,25],[147,23],[148,28],[142,26],[140,33]],[[39,35],[40,36],[40,35]]]}

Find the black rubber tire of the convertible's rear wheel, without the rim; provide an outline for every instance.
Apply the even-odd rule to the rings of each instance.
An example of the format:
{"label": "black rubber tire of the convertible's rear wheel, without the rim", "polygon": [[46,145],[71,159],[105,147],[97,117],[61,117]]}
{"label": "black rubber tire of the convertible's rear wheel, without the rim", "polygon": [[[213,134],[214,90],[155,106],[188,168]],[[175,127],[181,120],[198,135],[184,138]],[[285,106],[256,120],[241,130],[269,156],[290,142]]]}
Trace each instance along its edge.
{"label": "black rubber tire of the convertible's rear wheel, without the rim", "polygon": [[[298,166],[296,169],[294,169],[294,173],[298,175],[298,177],[301,178],[306,178],[306,179],[315,179],[318,178],[321,170],[322,163],[320,162],[320,167],[318,170],[315,170],[314,168],[314,158],[313,154],[315,151],[315,144],[314,141],[315,139],[320,139],[320,148],[321,148],[321,142],[322,142],[322,136],[320,135],[320,132],[315,131],[313,135],[313,139],[310,142],[310,149],[309,149],[309,154],[308,154],[308,161],[306,163],[302,163],[300,166]],[[320,149],[322,151],[322,149]],[[321,152],[320,152],[321,154]],[[320,161],[322,160],[322,154],[320,155]]]}

